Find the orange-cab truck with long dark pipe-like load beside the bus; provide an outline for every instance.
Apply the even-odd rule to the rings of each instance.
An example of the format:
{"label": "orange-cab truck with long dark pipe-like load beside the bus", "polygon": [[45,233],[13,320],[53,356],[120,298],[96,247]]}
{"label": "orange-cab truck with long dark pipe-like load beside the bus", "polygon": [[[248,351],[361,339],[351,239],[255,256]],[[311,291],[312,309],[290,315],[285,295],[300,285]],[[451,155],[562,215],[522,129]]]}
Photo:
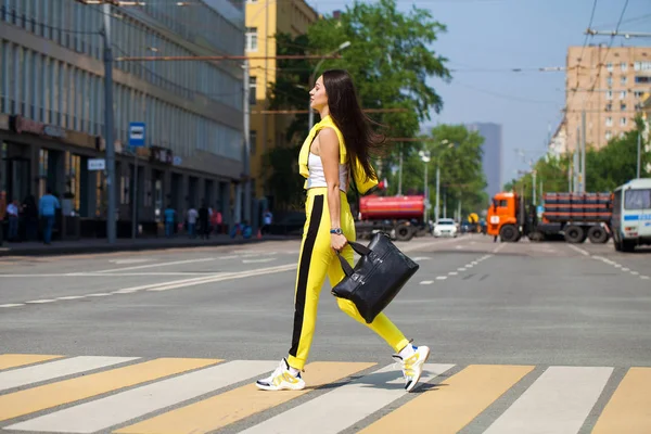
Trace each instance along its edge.
{"label": "orange-cab truck with long dark pipe-like load beside the bus", "polygon": [[569,243],[605,243],[611,237],[611,193],[546,193],[541,216],[518,193],[493,197],[486,215],[486,233],[503,242],[522,237],[545,241],[563,237]]}

